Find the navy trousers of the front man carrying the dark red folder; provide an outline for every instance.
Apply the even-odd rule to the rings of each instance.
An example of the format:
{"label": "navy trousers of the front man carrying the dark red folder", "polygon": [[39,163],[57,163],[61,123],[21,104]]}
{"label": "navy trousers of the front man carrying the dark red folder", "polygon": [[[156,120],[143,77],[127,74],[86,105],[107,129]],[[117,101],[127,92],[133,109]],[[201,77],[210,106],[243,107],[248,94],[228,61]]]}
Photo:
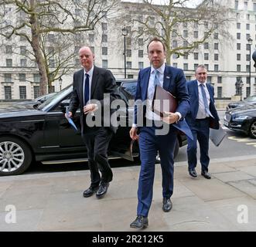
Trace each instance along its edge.
{"label": "navy trousers of the front man carrying the dark red folder", "polygon": [[141,171],[138,180],[137,215],[148,216],[152,203],[155,157],[159,151],[162,168],[162,197],[170,198],[173,191],[173,153],[177,130],[170,126],[166,135],[155,135],[155,127],[142,127],[139,134]]}

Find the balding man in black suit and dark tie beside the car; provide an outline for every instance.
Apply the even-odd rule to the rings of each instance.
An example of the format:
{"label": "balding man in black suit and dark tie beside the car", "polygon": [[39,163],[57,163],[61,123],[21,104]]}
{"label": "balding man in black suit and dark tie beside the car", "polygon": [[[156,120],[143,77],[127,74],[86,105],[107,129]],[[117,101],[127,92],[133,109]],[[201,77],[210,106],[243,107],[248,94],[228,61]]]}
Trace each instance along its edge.
{"label": "balding man in black suit and dark tie beside the car", "polygon": [[[120,96],[111,71],[94,66],[94,54],[89,47],[81,47],[79,57],[84,69],[73,74],[73,95],[68,114],[73,117],[80,106],[81,135],[87,147],[90,167],[90,187],[84,191],[84,197],[96,192],[97,198],[103,198],[113,177],[108,164],[108,144],[117,130],[117,125],[110,121],[113,113],[110,105]],[[106,114],[104,110],[110,113]]]}

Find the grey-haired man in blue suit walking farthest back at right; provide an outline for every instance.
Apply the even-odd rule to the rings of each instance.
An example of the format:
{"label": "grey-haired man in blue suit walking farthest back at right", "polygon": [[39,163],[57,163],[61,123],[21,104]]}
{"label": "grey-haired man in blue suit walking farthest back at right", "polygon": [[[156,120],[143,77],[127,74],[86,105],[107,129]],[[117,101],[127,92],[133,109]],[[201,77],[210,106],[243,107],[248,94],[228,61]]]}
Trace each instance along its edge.
{"label": "grey-haired man in blue suit walking farthest back at right", "polygon": [[196,174],[196,142],[200,144],[201,174],[204,178],[210,179],[208,166],[210,158],[209,131],[210,127],[219,128],[219,117],[214,106],[214,89],[207,83],[207,69],[200,65],[196,68],[196,80],[187,83],[189,90],[190,110],[186,115],[186,122],[193,133],[193,140],[188,140],[187,156],[189,164],[189,175],[193,178]]}

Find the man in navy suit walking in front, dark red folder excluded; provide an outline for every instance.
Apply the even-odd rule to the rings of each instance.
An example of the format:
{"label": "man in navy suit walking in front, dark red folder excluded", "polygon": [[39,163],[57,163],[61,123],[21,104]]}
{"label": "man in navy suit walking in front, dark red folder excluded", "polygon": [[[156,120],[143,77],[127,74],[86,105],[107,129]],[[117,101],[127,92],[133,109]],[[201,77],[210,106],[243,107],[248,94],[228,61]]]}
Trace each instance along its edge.
{"label": "man in navy suit walking in front, dark red folder excluded", "polygon": [[[131,223],[131,228],[148,226],[157,151],[161,157],[162,167],[162,210],[167,212],[172,209],[170,198],[173,191],[173,153],[176,136],[179,130],[191,134],[184,120],[189,110],[189,95],[183,70],[165,64],[166,46],[158,38],[152,39],[148,44],[148,59],[152,66],[142,69],[138,74],[135,117],[130,130],[132,140],[138,139],[139,132],[142,161],[138,181],[137,218]],[[165,117],[162,118],[152,112],[155,85],[162,86],[176,96],[179,104],[175,113],[166,112]]]}

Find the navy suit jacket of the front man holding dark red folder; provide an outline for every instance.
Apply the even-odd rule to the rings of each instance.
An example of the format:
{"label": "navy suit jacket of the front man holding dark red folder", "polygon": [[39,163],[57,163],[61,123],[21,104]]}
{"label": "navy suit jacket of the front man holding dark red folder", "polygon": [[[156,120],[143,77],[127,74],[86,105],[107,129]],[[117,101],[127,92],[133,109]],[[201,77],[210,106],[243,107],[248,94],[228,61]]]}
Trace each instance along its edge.
{"label": "navy suit jacket of the front man holding dark red folder", "polygon": [[[148,96],[148,82],[150,77],[151,67],[140,70],[138,73],[138,84],[135,94],[135,115],[134,123],[141,123],[138,121],[138,117],[145,118],[145,100]],[[193,135],[189,129],[189,126],[186,123],[185,117],[186,113],[189,111],[189,94],[186,88],[186,79],[182,69],[177,69],[172,66],[167,66],[164,71],[163,78],[163,88],[169,93],[172,93],[173,96],[176,96],[178,100],[177,112],[181,113],[182,118],[178,123],[172,123],[174,127],[183,131],[189,138],[193,139]],[[143,116],[137,116],[139,107],[143,107],[142,112]],[[143,121],[145,123],[145,121]]]}

